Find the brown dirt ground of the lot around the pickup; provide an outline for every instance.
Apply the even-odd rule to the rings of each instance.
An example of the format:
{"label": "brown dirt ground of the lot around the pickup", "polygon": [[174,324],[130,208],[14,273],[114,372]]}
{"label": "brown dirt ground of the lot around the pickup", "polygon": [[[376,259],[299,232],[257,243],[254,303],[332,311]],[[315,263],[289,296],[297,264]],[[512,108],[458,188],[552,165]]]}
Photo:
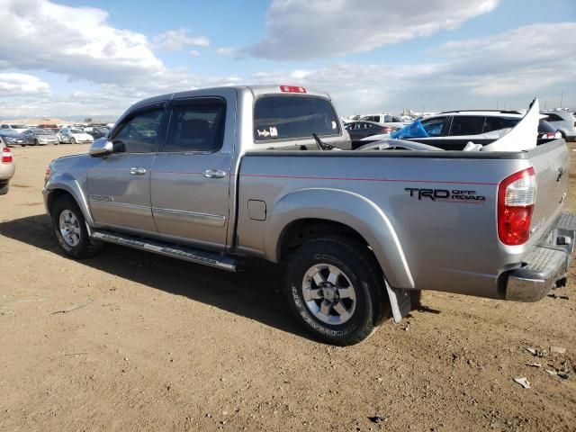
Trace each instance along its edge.
{"label": "brown dirt ground of the lot around the pickup", "polygon": [[[231,275],[113,246],[63,257],[43,177],[86,147],[13,150],[0,196],[2,431],[576,430],[576,378],[545,372],[576,365],[574,265],[555,299],[424,293],[400,325],[330,347],[302,334],[275,267]],[[526,350],[551,346],[566,352]]]}

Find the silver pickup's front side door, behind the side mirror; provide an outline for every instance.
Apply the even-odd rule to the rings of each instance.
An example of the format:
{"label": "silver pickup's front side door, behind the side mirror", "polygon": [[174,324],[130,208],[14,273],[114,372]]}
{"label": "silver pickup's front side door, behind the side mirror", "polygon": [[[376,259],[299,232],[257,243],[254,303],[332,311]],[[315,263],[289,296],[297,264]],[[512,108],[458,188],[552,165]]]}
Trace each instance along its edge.
{"label": "silver pickup's front side door, behind the side mirror", "polygon": [[130,114],[111,137],[114,153],[88,171],[90,211],[96,225],[156,232],[150,173],[160,144],[164,107]]}

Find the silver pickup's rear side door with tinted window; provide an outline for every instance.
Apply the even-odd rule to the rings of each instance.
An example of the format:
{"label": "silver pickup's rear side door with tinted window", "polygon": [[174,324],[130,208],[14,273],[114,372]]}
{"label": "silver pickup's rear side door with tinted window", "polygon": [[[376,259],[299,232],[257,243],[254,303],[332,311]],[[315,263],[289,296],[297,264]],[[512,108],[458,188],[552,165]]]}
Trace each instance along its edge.
{"label": "silver pickup's rear side door with tinted window", "polygon": [[166,145],[151,177],[152,212],[166,239],[226,247],[235,95],[172,103]]}

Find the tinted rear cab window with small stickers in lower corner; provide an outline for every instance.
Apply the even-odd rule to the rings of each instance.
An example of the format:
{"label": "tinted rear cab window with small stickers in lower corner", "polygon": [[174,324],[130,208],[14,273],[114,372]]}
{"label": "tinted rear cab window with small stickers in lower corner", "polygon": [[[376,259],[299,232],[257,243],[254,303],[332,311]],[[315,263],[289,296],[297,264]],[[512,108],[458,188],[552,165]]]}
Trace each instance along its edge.
{"label": "tinted rear cab window with small stickers in lower corner", "polygon": [[318,96],[266,95],[254,104],[255,142],[339,136],[332,103]]}

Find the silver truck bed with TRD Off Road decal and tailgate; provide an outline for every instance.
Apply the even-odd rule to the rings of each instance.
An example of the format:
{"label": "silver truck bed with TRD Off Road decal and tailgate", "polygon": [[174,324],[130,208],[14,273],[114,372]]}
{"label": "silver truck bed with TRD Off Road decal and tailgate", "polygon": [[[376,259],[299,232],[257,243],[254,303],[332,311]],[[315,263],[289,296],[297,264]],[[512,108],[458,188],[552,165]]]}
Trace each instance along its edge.
{"label": "silver truck bed with TRD Off Road decal and tailgate", "polygon": [[[365,229],[392,286],[504,298],[500,275],[521,266],[562,210],[568,176],[556,180],[569,157],[562,139],[522,152],[249,151],[238,176],[238,248],[275,260],[270,233],[283,220],[299,212],[346,220]],[[524,245],[505,246],[498,185],[530,166],[543,191],[534,232]],[[251,217],[248,202],[263,202],[266,220]]]}

